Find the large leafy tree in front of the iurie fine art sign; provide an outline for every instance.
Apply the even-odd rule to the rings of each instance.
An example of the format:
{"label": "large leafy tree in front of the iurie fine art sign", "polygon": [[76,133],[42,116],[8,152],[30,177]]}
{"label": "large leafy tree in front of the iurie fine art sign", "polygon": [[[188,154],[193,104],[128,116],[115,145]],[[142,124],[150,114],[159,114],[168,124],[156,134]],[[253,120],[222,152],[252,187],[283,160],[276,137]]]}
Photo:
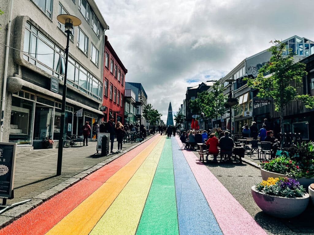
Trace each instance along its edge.
{"label": "large leafy tree in front of the iurie fine art sign", "polygon": [[246,80],[248,86],[258,89],[257,97],[273,99],[275,110],[280,113],[281,132],[284,133],[285,107],[293,100],[300,100],[305,107],[312,108],[314,99],[308,95],[299,95],[296,89],[302,83],[302,77],[307,74],[306,65],[295,63],[291,51],[285,55],[286,44],[279,40],[270,43],[273,46],[268,49],[272,53],[269,62],[258,70],[256,78]]}

